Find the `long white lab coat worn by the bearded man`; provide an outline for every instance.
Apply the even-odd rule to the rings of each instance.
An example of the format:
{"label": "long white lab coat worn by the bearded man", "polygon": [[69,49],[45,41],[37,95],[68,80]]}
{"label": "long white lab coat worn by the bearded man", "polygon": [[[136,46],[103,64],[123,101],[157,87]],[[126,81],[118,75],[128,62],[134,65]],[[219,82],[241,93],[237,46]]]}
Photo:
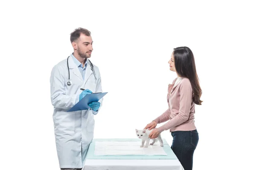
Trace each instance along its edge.
{"label": "long white lab coat worn by the bearded man", "polygon": [[[68,64],[72,82],[70,86],[67,85],[67,59],[52,68],[50,77],[55,142],[60,168],[82,168],[87,149],[93,139],[94,115],[100,108],[97,112],[91,109],[67,111],[75,105],[76,98],[82,92],[80,88],[89,89],[93,93],[102,92],[101,77],[99,68],[93,65],[97,78],[95,79],[89,61],[84,80],[71,56]],[[102,100],[99,101],[101,106]]]}

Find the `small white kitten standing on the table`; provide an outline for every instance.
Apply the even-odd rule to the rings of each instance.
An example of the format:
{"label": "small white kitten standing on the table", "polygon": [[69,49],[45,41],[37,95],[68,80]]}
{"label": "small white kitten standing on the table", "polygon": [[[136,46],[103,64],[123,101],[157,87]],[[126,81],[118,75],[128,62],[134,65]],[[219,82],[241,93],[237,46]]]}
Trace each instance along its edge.
{"label": "small white kitten standing on the table", "polygon": [[[148,135],[151,133],[152,130],[154,130],[154,129],[151,129],[151,130],[148,130],[148,129],[137,130],[136,129],[136,136],[142,140],[140,147],[143,147],[145,142],[146,142],[145,147],[148,147],[148,144],[150,141],[150,138],[148,137]],[[158,135],[158,137],[156,139],[152,139],[152,140],[153,140],[153,142],[151,143],[151,145],[153,145],[156,142],[156,140],[158,140],[160,142],[160,146],[163,147],[163,140],[161,138],[161,133]]]}

